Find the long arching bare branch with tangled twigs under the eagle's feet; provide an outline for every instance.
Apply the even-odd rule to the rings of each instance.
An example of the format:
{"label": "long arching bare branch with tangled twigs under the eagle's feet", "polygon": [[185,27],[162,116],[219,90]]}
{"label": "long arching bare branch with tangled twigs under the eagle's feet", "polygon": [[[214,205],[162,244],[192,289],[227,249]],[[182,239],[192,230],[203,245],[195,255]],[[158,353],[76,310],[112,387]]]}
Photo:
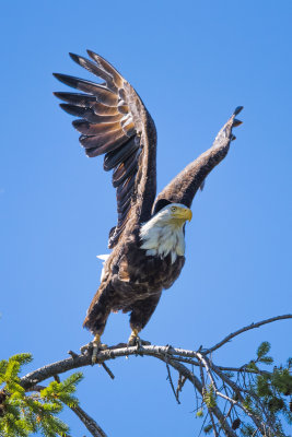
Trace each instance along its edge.
{"label": "long arching bare branch with tangled twigs under the eagle's feet", "polygon": [[[207,405],[208,408],[208,415],[211,421],[210,423],[213,428],[215,437],[219,437],[221,430],[224,433],[226,437],[236,437],[236,433],[232,429],[231,426],[231,424],[233,424],[231,412],[233,416],[234,415],[236,416],[238,414],[237,409],[241,409],[242,412],[247,417],[249,417],[249,420],[255,424],[257,428],[256,433],[260,433],[261,435],[270,435],[270,434],[277,435],[278,425],[277,422],[275,421],[275,417],[270,415],[269,411],[262,404],[261,399],[258,398],[256,392],[254,390],[250,390],[250,387],[253,387],[254,385],[253,382],[254,376],[267,375],[269,377],[272,374],[266,370],[257,369],[257,367],[247,368],[246,365],[238,368],[218,366],[213,363],[213,361],[211,361],[208,357],[208,354],[220,349],[231,339],[242,334],[243,332],[246,332],[250,329],[259,328],[264,324],[271,323],[277,320],[291,319],[291,318],[292,315],[284,315],[262,320],[257,323],[252,323],[247,327],[244,327],[235,331],[234,333],[229,334],[225,339],[223,339],[220,343],[215,344],[213,347],[209,350],[203,350],[202,347],[200,347],[198,352],[183,350],[179,347],[173,347],[170,345],[159,346],[159,345],[143,344],[139,346],[128,347],[127,344],[119,343],[115,346],[108,347],[107,350],[100,351],[96,357],[97,359],[96,364],[102,365],[104,369],[108,373],[110,378],[114,378],[113,373],[109,370],[105,362],[120,356],[129,356],[129,355],[155,357],[166,364],[170,383],[172,386],[173,392],[175,393],[177,402],[179,402],[178,392],[182,390],[185,380],[188,380],[192,383],[192,386],[195,387],[197,399],[198,397],[200,397],[202,405]],[[92,364],[91,351],[84,346],[82,347],[82,350],[85,351],[84,354],[75,354],[74,352],[70,351],[69,358],[62,359],[57,363],[51,363],[47,366],[44,366],[37,370],[34,370],[25,375],[20,379],[20,385],[26,391],[34,391],[34,390],[36,391],[38,388],[42,387],[39,386],[39,382],[46,380],[47,378],[56,377],[56,375],[75,368],[90,366]],[[191,367],[192,370],[186,367],[185,364],[190,364],[192,366]],[[199,379],[199,377],[195,375],[194,366],[200,367],[201,380]],[[175,370],[177,370],[179,375],[178,387],[176,391],[174,388],[174,383],[172,381],[170,367],[173,367]],[[237,378],[235,379],[236,381],[234,381],[226,371],[237,373]],[[219,405],[214,404],[213,406],[212,403],[209,404],[207,398],[205,398],[207,393],[206,385],[208,379],[210,380],[210,387],[212,387],[214,395],[221,398]],[[220,383],[217,383],[217,380],[220,381]],[[256,406],[255,410],[246,408],[246,399],[248,397],[253,398],[253,402],[255,403]],[[227,406],[230,408],[227,414],[225,414]],[[100,428],[96,422],[94,422],[85,412],[83,412],[82,409],[72,408],[72,410],[81,418],[81,421],[85,424],[85,426],[87,426],[87,429],[92,433],[94,437],[105,436],[104,432]],[[261,413],[258,414],[258,411],[261,411]]]}

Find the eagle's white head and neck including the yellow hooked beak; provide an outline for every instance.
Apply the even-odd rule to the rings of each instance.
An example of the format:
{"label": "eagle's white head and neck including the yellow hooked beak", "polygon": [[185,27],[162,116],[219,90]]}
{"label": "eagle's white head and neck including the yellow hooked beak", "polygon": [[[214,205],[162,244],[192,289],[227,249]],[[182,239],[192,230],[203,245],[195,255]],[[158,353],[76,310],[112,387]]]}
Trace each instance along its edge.
{"label": "eagle's white head and neck including the yellow hooked beak", "polygon": [[171,253],[174,263],[177,256],[185,255],[184,224],[191,216],[190,209],[182,203],[164,206],[141,226],[141,249],[147,250],[147,256],[160,258]]}

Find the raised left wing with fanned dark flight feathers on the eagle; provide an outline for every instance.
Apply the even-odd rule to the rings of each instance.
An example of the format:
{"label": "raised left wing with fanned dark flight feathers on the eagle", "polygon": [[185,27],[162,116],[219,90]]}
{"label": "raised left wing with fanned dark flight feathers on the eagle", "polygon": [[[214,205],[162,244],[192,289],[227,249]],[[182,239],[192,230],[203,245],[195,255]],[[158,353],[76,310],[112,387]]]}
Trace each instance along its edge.
{"label": "raised left wing with fanned dark flight feathers on the eagle", "polygon": [[[54,75],[82,93],[55,93],[61,108],[79,117],[80,143],[87,156],[105,154],[104,169],[114,170],[118,223],[108,247],[117,245],[122,232],[150,218],[156,192],[156,131],[154,122],[132,86],[101,56],[87,50],[92,60],[71,58],[103,83],[96,84],[66,74]],[[131,215],[131,221],[129,221]]]}

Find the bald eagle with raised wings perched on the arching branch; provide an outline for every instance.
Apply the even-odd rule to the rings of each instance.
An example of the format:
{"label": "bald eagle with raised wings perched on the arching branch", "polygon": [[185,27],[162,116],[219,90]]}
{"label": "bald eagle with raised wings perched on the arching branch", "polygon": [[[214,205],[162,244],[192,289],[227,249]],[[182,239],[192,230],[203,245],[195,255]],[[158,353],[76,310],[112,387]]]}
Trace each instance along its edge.
{"label": "bald eagle with raised wings perched on the arching branch", "polygon": [[130,312],[129,344],[151,318],[162,291],[170,288],[185,263],[185,224],[191,202],[207,175],[227,154],[241,123],[237,107],[213,145],[190,163],[156,196],[155,125],[133,87],[105,59],[87,50],[91,60],[70,54],[73,61],[103,80],[94,83],[70,75],[55,76],[82,93],[58,92],[61,108],[78,117],[73,127],[90,157],[105,155],[113,170],[117,225],[109,232],[101,285],[83,326],[94,335],[93,361],[110,311]]}

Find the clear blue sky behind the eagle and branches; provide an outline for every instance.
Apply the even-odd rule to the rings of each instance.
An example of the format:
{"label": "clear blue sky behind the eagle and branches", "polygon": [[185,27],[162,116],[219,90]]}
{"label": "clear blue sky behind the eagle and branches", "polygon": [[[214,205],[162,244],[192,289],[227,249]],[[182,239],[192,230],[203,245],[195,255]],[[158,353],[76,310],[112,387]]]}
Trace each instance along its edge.
{"label": "clear blue sky behind the eagle and branches", "polygon": [[[51,72],[90,78],[68,51],[90,48],[136,87],[159,132],[163,188],[208,149],[238,105],[244,125],[208,177],[187,226],[187,262],[143,338],[210,346],[253,321],[291,311],[292,3],[275,1],[10,1],[1,5],[1,358],[32,352],[31,369],[91,340],[81,327],[98,286],[115,193],[87,160]],[[69,88],[68,88],[69,90]],[[213,357],[243,364],[262,340],[284,362],[291,323],[247,333]],[[129,335],[109,318],[104,341]],[[197,436],[186,386],[177,405],[153,358],[86,368],[81,405],[109,436]],[[74,437],[87,435],[71,412]]]}

